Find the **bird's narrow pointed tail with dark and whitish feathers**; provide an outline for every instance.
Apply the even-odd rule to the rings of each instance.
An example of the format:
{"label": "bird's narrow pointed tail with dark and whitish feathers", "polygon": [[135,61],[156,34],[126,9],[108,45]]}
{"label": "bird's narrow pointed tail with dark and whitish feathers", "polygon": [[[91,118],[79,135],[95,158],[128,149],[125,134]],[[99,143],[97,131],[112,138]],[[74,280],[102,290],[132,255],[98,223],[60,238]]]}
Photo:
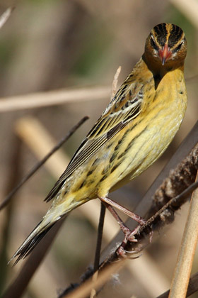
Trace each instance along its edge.
{"label": "bird's narrow pointed tail with dark and whitish feathers", "polygon": [[[22,243],[18,250],[16,250],[16,253],[14,253],[11,260],[13,260],[16,257],[18,258],[16,259],[16,262],[13,265],[16,265],[19,260],[26,258],[31,253],[31,251],[35,248],[37,243],[39,243],[41,239],[45,236],[45,234],[48,231],[50,231],[50,228],[54,226],[54,223],[56,223],[56,221],[54,223],[47,224],[46,226],[40,228],[41,223],[42,221],[38,223],[38,225],[34,228],[32,233],[30,233],[28,238],[26,238],[26,240]],[[9,260],[8,263],[10,263],[11,260]]]}

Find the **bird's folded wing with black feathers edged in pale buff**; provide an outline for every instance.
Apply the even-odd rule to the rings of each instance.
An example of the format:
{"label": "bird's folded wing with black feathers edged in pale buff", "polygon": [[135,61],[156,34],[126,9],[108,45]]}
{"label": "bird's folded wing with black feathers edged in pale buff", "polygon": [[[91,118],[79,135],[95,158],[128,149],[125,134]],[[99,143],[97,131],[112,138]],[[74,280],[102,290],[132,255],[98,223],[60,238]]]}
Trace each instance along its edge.
{"label": "bird's folded wing with black feathers edged in pale buff", "polygon": [[100,116],[91,131],[84,138],[80,147],[66,167],[59,180],[54,185],[50,193],[45,198],[49,202],[53,199],[59,189],[61,189],[65,180],[78,168],[83,162],[90,158],[115,134],[121,131],[124,126],[132,119],[136,118],[141,112],[141,103],[143,101],[143,85],[136,87],[135,83],[122,84],[115,94],[107,109]]}

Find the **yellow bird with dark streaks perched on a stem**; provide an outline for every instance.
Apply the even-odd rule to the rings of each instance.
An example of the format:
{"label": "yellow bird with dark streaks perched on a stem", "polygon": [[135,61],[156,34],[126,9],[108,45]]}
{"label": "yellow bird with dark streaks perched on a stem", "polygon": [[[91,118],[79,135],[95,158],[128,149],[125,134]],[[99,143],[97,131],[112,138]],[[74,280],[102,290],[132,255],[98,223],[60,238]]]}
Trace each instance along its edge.
{"label": "yellow bird with dark streaks perched on a stem", "polygon": [[[144,53],[45,198],[52,204],[40,223],[16,250],[16,263],[71,210],[100,199],[125,235],[133,233],[117,215],[120,209],[139,224],[144,219],[112,201],[108,194],[144,172],[165,151],[187,108],[184,63],[185,33],[173,23],[156,25]],[[134,217],[133,217],[134,216]]]}

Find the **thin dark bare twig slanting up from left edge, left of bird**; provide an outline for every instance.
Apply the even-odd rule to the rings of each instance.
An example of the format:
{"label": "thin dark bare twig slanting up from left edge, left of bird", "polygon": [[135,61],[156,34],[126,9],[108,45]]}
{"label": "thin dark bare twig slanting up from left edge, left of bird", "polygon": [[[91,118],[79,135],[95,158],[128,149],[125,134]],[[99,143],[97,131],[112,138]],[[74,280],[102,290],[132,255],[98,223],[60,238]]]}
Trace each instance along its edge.
{"label": "thin dark bare twig slanting up from left edge, left of bird", "polygon": [[62,147],[62,145],[66,142],[66,140],[68,140],[73,133],[75,133],[75,131],[86,121],[88,120],[88,116],[83,117],[73,128],[71,128],[71,130],[69,131],[69,133],[66,133],[66,136],[64,136],[64,138],[62,138],[62,140],[59,141],[59,143],[57,143],[57,145],[54,146],[54,148],[52,148],[52,150],[50,150],[50,152],[45,155],[44,158],[42,158],[42,160],[40,160],[40,162],[37,162],[37,164],[28,172],[27,175],[25,175],[25,177],[23,177],[23,179],[21,180],[21,182],[18,183],[18,185],[16,185],[16,187],[14,187],[11,192],[9,192],[9,194],[6,196],[6,198],[4,199],[3,202],[1,202],[0,204],[0,211],[2,209],[4,209],[4,207],[8,204],[8,202],[10,202],[11,198],[13,197],[14,194],[16,194],[16,192],[18,191],[18,189],[20,189],[23,184],[25,182],[27,182],[30,177],[32,177],[35,172],[37,172],[37,170],[40,169],[40,167],[42,167],[42,165],[44,165],[44,163],[50,158],[50,156],[52,156],[52,154],[54,154],[54,152],[56,152],[59,148]]}

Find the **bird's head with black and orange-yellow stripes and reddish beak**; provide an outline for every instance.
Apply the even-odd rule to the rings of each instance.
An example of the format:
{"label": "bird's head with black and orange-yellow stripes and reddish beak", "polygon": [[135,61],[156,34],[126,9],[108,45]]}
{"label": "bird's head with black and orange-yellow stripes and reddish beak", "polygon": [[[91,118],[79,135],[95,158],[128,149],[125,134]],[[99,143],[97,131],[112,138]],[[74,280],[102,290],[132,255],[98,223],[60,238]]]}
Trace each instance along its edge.
{"label": "bird's head with black and orange-yellow stripes and reddish beak", "polygon": [[144,53],[147,60],[162,66],[183,62],[187,53],[185,33],[171,23],[158,24],[146,39]]}

